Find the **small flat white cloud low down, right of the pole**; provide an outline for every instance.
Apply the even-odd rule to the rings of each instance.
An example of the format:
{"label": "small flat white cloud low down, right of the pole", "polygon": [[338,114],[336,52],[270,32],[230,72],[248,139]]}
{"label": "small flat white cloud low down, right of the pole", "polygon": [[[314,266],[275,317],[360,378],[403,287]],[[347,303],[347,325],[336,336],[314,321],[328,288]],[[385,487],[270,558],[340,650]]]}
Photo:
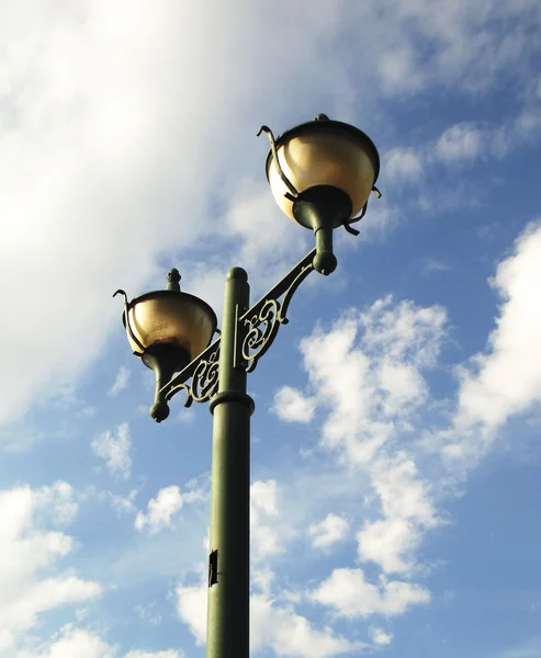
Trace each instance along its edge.
{"label": "small flat white cloud low down, right of the pole", "polygon": [[418,585],[401,580],[383,580],[380,586],[367,582],[361,569],[335,569],[309,598],[329,605],[337,614],[349,617],[368,617],[374,614],[404,614],[414,605],[430,601],[430,592]]}

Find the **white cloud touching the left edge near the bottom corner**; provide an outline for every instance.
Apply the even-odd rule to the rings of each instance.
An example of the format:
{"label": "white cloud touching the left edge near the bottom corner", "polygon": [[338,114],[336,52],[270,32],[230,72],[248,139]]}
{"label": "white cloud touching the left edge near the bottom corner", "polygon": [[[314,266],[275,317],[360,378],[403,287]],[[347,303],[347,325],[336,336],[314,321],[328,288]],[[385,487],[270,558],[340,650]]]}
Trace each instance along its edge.
{"label": "white cloud touching the left edge near the bottom corner", "polygon": [[98,582],[58,570],[57,563],[74,551],[75,540],[47,525],[72,520],[77,510],[70,499],[66,483],[0,491],[0,654],[12,653],[41,614],[101,593]]}

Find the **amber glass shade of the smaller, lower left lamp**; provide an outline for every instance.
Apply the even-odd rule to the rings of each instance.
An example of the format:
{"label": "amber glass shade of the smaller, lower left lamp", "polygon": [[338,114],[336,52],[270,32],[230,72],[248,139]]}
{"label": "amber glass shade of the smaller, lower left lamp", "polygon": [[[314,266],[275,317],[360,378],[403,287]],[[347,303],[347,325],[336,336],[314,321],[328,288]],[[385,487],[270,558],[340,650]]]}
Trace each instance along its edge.
{"label": "amber glass shade of the smaller, lower left lamp", "polygon": [[[182,348],[192,361],[205,350],[216,330],[214,310],[194,295],[158,291],[136,297],[128,305],[129,326],[145,350],[158,345]],[[125,317],[124,317],[125,325]],[[127,332],[134,352],[139,345]]]}

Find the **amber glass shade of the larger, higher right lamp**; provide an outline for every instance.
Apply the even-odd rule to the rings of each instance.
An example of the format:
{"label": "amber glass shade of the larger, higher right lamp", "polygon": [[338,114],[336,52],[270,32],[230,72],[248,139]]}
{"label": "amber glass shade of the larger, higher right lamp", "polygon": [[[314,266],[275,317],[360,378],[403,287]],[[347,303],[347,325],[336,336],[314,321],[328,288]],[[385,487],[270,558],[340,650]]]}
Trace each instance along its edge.
{"label": "amber glass shade of the larger, higher right lamp", "polygon": [[[352,203],[351,217],[365,205],[380,173],[380,156],[362,131],[338,121],[316,120],[281,135],[277,155],[285,177],[297,192],[315,185],[333,185]],[[272,150],[267,157],[267,178],[278,205],[292,219],[293,202],[282,181]]]}

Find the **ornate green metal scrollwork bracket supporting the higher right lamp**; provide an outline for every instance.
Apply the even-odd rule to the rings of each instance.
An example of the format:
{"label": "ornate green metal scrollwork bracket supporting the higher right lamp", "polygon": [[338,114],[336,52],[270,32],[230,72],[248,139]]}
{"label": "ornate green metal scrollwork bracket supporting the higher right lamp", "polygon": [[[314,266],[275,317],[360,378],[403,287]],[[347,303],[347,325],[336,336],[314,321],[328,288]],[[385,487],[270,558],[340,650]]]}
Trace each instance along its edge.
{"label": "ornate green metal scrollwork bracket supporting the higher right lamp", "polygon": [[[313,258],[313,252],[311,252]],[[313,271],[312,260],[304,259],[283,279],[278,286],[255,304],[244,316],[240,322],[248,327],[243,340],[243,364],[247,373],[251,373],[259,359],[263,356],[277,337],[280,325],[286,325],[290,302],[295,291],[306,276]],[[283,299],[280,302],[280,297]]]}

